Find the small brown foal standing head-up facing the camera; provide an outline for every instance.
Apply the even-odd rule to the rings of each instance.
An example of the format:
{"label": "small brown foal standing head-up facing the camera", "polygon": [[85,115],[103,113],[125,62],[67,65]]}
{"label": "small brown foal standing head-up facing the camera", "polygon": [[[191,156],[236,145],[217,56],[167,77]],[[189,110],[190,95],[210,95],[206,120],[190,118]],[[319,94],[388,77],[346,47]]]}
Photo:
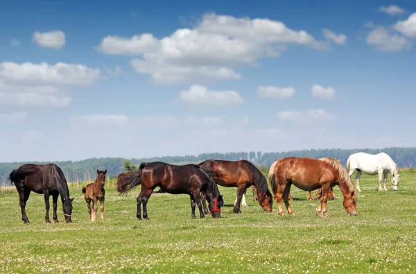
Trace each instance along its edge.
{"label": "small brown foal standing head-up facing the camera", "polygon": [[[97,178],[95,182],[86,185],[83,187],[83,194],[85,202],[87,202],[87,209],[89,214],[89,221],[95,222],[97,219],[97,209],[98,209],[98,200],[100,201],[101,209],[101,221],[104,221],[104,200],[105,200],[105,174],[107,174],[107,169],[105,171],[100,171],[97,169]],[[91,212],[91,201],[93,212]]]}

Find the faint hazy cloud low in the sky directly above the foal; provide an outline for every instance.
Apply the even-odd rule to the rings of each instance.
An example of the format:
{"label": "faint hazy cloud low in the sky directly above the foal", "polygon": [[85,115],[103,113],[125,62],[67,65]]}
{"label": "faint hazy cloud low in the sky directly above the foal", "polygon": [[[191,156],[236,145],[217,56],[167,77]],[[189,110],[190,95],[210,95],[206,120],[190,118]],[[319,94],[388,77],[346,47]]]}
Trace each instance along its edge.
{"label": "faint hazy cloud low in the sky directly above the foal", "polygon": [[124,114],[90,114],[71,117],[71,129],[101,130],[103,132],[128,125],[128,117]]}

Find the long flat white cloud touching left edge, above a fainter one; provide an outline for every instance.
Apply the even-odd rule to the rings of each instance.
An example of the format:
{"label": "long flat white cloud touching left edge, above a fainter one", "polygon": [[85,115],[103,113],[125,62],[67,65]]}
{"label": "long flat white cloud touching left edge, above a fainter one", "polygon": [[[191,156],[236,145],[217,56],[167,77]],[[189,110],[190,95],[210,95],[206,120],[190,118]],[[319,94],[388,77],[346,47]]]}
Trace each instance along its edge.
{"label": "long flat white cloud touching left edge, above a fainter one", "polygon": [[82,86],[92,85],[99,77],[100,69],[91,69],[79,64],[0,63],[0,82],[3,83]]}

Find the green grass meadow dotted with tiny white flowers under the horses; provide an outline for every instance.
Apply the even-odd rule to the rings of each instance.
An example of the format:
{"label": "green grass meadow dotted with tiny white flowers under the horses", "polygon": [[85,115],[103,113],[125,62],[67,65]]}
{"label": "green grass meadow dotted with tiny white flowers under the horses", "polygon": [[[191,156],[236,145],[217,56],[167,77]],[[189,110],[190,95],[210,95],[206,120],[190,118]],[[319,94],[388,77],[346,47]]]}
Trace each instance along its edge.
{"label": "green grass meadow dotted with tiny white flowers under the horses", "polygon": [[277,216],[276,203],[263,213],[251,191],[249,207],[233,214],[236,189],[220,187],[223,218],[193,220],[189,196],[153,194],[150,221],[136,219],[140,186],[127,197],[106,187],[105,221],[96,223],[78,185],[70,188],[73,223],[63,223],[60,201],[61,223],[44,223],[44,198],[32,193],[28,225],[9,191],[0,195],[0,273],[414,273],[415,182],[405,172],[399,191],[379,192],[377,177],[363,175],[357,216],[347,216],[338,187],[331,217],[315,216],[318,201],[296,187],[294,216]]}

